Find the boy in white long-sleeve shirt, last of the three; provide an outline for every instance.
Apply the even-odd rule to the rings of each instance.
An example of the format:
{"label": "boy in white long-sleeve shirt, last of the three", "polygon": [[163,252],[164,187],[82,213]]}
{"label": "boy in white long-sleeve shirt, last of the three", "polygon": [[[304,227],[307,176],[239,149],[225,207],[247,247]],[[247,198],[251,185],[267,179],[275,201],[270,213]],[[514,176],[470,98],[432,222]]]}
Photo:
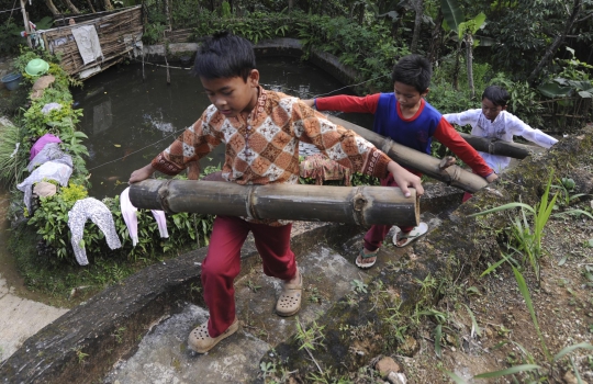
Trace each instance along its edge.
{"label": "boy in white long-sleeve shirt, last of the three", "polygon": [[[482,93],[482,109],[448,113],[443,117],[450,124],[470,124],[473,136],[495,137],[510,143],[513,143],[513,136],[522,136],[544,148],[550,148],[558,143],[556,138],[546,135],[539,129],[532,128],[521,118],[507,112],[506,106],[510,99],[511,95],[503,88],[490,86]],[[502,172],[511,162],[511,158],[506,156],[478,153],[496,173]],[[463,201],[469,197],[471,197],[471,194],[466,193]]]}

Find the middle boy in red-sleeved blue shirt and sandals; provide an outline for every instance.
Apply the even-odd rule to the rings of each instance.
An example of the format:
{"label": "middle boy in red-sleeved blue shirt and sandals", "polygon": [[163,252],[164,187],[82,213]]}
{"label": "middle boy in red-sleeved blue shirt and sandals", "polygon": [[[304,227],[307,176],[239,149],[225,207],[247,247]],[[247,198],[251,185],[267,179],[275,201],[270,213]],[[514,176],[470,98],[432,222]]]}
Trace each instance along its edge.
{"label": "middle boy in red-sleeved blue shirt and sandals", "polygon": [[[430,155],[433,137],[448,147],[472,170],[492,182],[497,176],[443,115],[428,104],[424,97],[428,93],[432,77],[430,63],[419,55],[409,55],[393,67],[391,79],[393,92],[376,93],[367,97],[336,95],[304,100],[307,105],[318,111],[342,111],[374,114],[373,132],[391,137],[395,143]],[[417,172],[413,173],[421,176]],[[388,176],[381,185],[398,187]],[[373,225],[365,236],[365,246],[360,250],[356,264],[367,269],[377,261],[377,253],[387,234],[389,225]],[[404,247],[424,235],[428,226],[421,223],[417,227],[396,228],[393,242]]]}

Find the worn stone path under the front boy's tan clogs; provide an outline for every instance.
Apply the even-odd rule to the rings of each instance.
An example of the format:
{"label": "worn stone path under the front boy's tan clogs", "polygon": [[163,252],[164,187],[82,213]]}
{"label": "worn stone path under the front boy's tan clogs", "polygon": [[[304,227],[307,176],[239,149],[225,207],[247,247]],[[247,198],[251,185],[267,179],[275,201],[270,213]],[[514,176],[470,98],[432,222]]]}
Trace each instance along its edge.
{"label": "worn stone path under the front boy's tan clogs", "polygon": [[[359,242],[358,242],[359,244]],[[338,251],[321,244],[299,258],[303,274],[303,305],[298,317],[275,314],[281,284],[266,276],[259,266],[236,280],[236,307],[240,329],[213,350],[199,354],[187,349],[191,329],[208,319],[208,310],[188,304],[147,334],[137,352],[120,361],[104,383],[243,383],[260,373],[265,353],[296,332],[302,324],[316,320],[339,298],[351,291],[351,282],[371,278]],[[268,352],[273,353],[273,352]]]}

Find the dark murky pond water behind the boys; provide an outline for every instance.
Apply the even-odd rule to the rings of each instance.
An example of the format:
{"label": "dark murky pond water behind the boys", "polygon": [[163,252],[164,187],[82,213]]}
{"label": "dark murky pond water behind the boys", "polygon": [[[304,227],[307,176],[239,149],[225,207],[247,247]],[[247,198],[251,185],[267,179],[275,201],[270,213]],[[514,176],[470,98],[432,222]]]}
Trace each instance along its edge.
{"label": "dark murky pond water behind the boys", "polygon": [[[310,99],[321,94],[353,94],[324,70],[294,58],[258,58],[260,83],[265,89]],[[198,78],[188,70],[133,64],[111,69],[74,90],[77,108],[85,116],[79,129],[89,139],[87,168],[92,184],[89,194],[102,199],[120,194],[130,173],[165,149],[184,127],[191,125],[210,104]],[[370,126],[371,115],[342,117]],[[201,160],[222,166],[224,146]]]}

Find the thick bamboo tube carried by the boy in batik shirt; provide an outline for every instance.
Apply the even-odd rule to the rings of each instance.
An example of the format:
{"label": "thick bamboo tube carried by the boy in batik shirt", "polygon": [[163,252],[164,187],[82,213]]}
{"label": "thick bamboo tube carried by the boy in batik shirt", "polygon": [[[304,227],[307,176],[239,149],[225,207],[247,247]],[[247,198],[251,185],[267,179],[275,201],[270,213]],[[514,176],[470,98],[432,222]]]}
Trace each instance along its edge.
{"label": "thick bamboo tube carried by the boy in batik shirt", "polygon": [[144,180],[130,187],[138,208],[258,219],[416,226],[419,196],[393,187],[239,185],[194,180]]}

